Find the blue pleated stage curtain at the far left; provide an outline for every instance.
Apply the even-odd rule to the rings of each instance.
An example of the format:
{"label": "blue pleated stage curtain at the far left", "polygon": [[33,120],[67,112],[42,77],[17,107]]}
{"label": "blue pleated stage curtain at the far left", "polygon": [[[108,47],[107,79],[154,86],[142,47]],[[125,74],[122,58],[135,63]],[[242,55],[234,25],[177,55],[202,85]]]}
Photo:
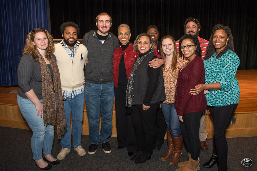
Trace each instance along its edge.
{"label": "blue pleated stage curtain at the far left", "polygon": [[17,68],[30,30],[49,30],[46,0],[1,0],[0,86],[18,85]]}

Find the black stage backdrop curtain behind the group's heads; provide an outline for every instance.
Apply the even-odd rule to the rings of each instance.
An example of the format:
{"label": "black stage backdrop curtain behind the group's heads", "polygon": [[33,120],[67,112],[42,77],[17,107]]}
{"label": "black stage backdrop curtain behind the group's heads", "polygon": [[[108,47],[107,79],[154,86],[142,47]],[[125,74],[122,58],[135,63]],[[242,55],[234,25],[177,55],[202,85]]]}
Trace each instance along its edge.
{"label": "black stage backdrop curtain behind the group's heads", "polygon": [[149,25],[156,25],[160,38],[167,34],[178,40],[183,34],[184,21],[197,18],[202,25],[200,37],[209,40],[212,27],[228,25],[234,37],[235,52],[240,58],[238,69],[257,69],[256,60],[256,1],[251,0],[51,0],[51,33],[62,38],[60,25],[73,21],[80,27],[79,38],[90,30],[97,29],[95,17],[106,12],[113,19],[111,32],[126,23],[131,28],[131,41]]}

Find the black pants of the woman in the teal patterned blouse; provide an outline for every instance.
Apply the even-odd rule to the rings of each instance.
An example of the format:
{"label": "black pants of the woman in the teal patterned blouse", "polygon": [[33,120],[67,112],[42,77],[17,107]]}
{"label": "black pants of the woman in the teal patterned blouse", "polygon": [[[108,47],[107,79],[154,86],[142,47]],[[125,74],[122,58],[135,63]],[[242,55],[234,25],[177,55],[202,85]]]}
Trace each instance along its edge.
{"label": "black pants of the woman in the teal patterned blouse", "polygon": [[228,170],[228,144],[225,133],[237,105],[238,104],[219,107],[208,106],[214,126],[213,154],[218,156],[218,166],[220,171]]}

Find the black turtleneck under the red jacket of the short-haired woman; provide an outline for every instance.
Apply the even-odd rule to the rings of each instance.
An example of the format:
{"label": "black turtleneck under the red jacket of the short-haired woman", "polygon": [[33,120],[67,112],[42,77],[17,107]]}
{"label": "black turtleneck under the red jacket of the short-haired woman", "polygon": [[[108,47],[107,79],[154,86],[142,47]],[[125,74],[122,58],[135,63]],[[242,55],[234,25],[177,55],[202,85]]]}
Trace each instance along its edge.
{"label": "black turtleneck under the red jacket of the short-haired woman", "polygon": [[130,41],[128,41],[128,43],[125,45],[121,45],[121,50],[123,51],[123,54],[121,56],[120,65],[119,65],[118,86],[127,86],[128,84],[128,78],[127,78],[126,67],[124,62],[124,50],[127,49],[129,44],[130,44]]}

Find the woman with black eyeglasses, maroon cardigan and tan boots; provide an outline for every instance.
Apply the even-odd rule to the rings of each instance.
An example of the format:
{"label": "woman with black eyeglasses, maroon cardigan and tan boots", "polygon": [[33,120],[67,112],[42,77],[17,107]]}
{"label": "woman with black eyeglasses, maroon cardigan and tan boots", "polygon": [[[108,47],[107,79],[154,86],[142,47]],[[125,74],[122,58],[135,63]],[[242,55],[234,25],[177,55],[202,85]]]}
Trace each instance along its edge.
{"label": "woman with black eyeglasses, maroon cardigan and tan boots", "polygon": [[179,54],[187,58],[188,62],[178,72],[174,107],[181,121],[181,134],[188,150],[189,160],[183,162],[184,167],[178,168],[177,171],[200,169],[199,127],[202,111],[206,109],[206,98],[204,92],[198,95],[191,95],[189,92],[196,85],[203,84],[205,80],[201,52],[196,36],[185,34],[180,38]]}

